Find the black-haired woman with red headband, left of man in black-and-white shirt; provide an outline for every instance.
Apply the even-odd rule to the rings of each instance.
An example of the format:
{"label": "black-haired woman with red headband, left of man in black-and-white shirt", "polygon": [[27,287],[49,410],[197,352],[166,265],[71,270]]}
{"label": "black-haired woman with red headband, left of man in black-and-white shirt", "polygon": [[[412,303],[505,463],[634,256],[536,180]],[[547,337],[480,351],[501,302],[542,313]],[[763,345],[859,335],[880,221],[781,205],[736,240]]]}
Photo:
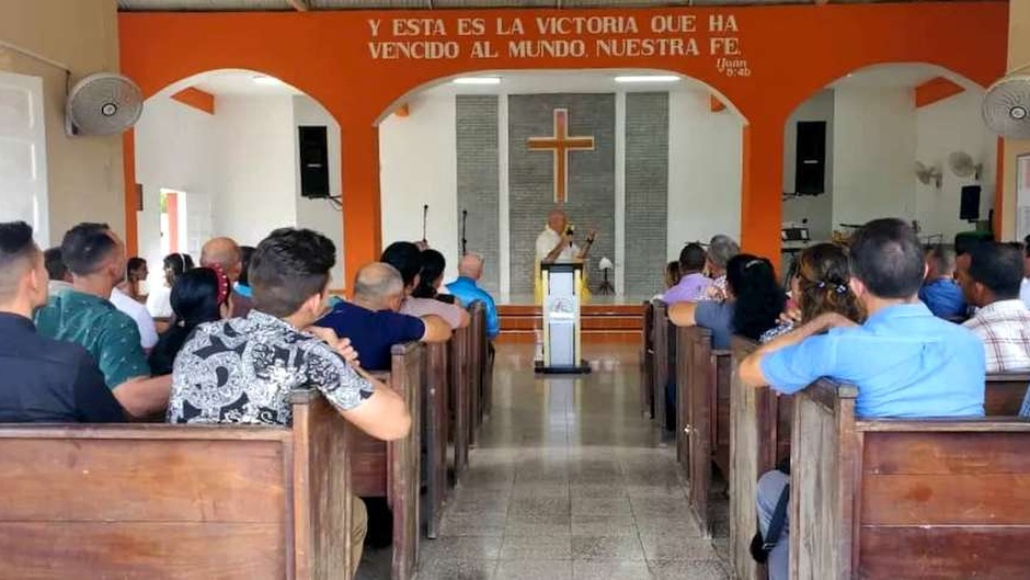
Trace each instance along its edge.
{"label": "black-haired woman with red headband, left of man in black-and-white shirt", "polygon": [[232,311],[229,278],[221,270],[191,270],[175,281],[171,303],[175,323],[161,333],[150,353],[150,372],[154,375],[171,374],[175,355],[194,329],[206,322],[229,318]]}

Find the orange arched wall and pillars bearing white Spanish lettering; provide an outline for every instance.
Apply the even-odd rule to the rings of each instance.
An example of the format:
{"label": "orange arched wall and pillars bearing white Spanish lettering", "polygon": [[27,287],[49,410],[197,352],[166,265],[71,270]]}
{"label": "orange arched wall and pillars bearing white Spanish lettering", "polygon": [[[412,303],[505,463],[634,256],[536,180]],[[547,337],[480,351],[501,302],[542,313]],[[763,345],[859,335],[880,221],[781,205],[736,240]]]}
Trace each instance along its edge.
{"label": "orange arched wall and pillars bearing white Spanish lettering", "polygon": [[[547,35],[537,19],[632,16],[637,33]],[[711,19],[735,20],[735,31],[712,32]],[[694,19],[694,32],[652,32],[657,24]],[[880,62],[929,62],[982,86],[1004,72],[1008,4],[918,2],[906,4],[664,8],[622,10],[479,10],[308,13],[124,13],[119,18],[122,69],[146,95],[183,78],[221,68],[244,68],[283,79],[318,100],[342,128],[346,271],[379,251],[378,120],[404,95],[447,77],[488,70],[657,69],[676,71],[712,87],[720,100],[748,123],[745,134],[742,243],[752,252],[778,255],[783,124],[815,91],[847,72]],[[428,19],[414,30],[405,19]],[[476,34],[479,20],[482,34]],[[515,20],[520,35],[508,34]],[[378,36],[371,29],[378,21]],[[398,32],[414,36],[393,37]],[[499,25],[500,22],[500,25]],[[574,24],[572,20],[560,21]],[[421,27],[421,26],[420,26]],[[445,35],[433,35],[438,29]],[[502,30],[499,30],[502,29]],[[437,29],[437,30],[434,30]],[[460,34],[460,32],[470,34]],[[169,42],[168,38],[175,38]],[[694,38],[697,56],[596,56],[529,58],[507,54],[508,42]],[[732,38],[726,41],[724,38]],[[270,39],[274,39],[271,42]],[[392,41],[453,42],[449,59],[376,59],[373,50]],[[491,52],[472,55],[473,43]],[[735,45],[734,45],[735,43]],[[712,47],[717,54],[712,54]],[[746,73],[719,66],[719,53],[736,48]],[[731,50],[732,52],[732,50]],[[131,150],[126,162],[131,163]],[[128,189],[127,189],[128,191]]]}

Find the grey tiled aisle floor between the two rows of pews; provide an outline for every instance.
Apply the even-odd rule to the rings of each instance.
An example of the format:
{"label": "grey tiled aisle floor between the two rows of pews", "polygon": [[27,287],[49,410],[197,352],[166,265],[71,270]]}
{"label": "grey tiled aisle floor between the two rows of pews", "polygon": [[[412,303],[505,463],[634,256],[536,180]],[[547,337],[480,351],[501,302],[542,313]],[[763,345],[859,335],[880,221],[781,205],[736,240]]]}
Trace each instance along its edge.
{"label": "grey tiled aisle floor between the two rows of pews", "polygon": [[[492,417],[419,580],[728,578],[724,502],[702,538],[675,445],[639,411],[637,348],[588,345],[581,377],[535,377],[531,354],[499,349]],[[382,550],[358,577],[388,570]]]}

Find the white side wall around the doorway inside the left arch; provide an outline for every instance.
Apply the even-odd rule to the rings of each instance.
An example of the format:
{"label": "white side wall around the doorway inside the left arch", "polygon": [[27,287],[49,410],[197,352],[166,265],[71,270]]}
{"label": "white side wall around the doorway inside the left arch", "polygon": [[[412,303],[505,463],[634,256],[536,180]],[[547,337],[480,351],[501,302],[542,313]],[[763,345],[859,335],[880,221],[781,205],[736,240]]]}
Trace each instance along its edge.
{"label": "white side wall around the doorway inside the left arch", "polygon": [[136,215],[138,253],[150,266],[151,285],[162,280],[160,264],[164,258],[160,190],[208,195],[216,192],[216,129],[214,116],[168,96],[149,99],[136,124],[136,181],[144,186],[144,211]]}

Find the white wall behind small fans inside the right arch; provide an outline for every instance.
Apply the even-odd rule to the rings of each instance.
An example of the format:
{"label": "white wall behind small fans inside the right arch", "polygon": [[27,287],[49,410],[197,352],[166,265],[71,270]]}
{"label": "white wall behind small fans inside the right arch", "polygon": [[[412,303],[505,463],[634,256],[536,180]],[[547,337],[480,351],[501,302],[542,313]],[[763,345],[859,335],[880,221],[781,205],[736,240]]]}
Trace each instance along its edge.
{"label": "white wall behind small fans inside the right arch", "polygon": [[[946,243],[960,231],[974,229],[975,225],[959,219],[959,203],[963,185],[978,183],[980,218],[987,219],[994,207],[994,190],[997,172],[997,140],[981,117],[983,94],[966,91],[962,94],[920,107],[916,113],[916,159],[943,169],[941,187],[924,185],[913,180],[916,191],[916,219],[923,234],[941,234]],[[980,181],[959,178],[948,167],[948,156],[965,151],[977,163],[983,163]]]}

